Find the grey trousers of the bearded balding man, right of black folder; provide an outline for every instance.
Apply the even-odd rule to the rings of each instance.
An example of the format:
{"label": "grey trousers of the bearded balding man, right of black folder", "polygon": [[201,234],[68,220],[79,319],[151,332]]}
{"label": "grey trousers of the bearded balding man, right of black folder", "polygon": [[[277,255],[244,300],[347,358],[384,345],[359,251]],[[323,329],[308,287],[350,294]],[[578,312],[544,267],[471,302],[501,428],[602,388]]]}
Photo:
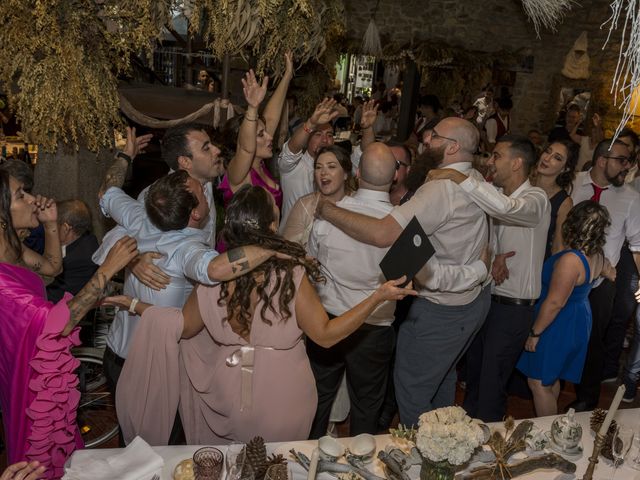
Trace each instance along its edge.
{"label": "grey trousers of the bearded balding man, right of black folder", "polygon": [[396,349],[400,423],[417,425],[422,413],[454,404],[456,363],[482,327],[490,303],[490,287],[467,305],[414,300],[400,326]]}

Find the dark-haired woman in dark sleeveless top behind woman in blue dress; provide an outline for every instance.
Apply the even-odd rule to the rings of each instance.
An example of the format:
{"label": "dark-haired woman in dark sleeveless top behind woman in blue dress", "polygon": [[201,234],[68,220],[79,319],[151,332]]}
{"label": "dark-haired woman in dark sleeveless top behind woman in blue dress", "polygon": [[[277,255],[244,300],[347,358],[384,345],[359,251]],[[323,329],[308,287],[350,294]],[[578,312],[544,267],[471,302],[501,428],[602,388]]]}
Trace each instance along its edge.
{"label": "dark-haired woman in dark sleeveless top behind woman in blue dress", "polygon": [[576,176],[580,148],[571,140],[556,140],[545,148],[531,179],[531,184],[542,188],[551,203],[551,222],[547,233],[545,260],[563,249],[562,224],[573,207],[571,185]]}

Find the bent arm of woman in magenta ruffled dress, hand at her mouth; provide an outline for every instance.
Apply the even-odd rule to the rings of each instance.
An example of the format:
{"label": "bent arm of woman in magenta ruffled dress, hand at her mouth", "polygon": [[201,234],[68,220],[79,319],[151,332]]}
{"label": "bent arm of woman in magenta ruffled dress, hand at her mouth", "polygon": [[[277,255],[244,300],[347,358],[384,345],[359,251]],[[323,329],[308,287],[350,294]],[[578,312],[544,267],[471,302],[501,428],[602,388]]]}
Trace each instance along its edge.
{"label": "bent arm of woman in magenta ruffled dress, hand at her mouth", "polygon": [[58,236],[58,209],[51,198],[36,197],[36,215],[44,226],[44,254],[24,247],[22,261],[34,272],[55,277],[62,272],[62,247]]}

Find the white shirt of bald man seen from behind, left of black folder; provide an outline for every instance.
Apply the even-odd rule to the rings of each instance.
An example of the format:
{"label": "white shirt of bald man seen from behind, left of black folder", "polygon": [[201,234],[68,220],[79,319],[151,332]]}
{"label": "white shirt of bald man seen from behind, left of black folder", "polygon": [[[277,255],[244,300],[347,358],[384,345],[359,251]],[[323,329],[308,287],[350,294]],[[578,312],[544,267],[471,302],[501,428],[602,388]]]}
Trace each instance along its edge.
{"label": "white shirt of bald man seen from behind, left of black folder", "polygon": [[[383,218],[393,209],[388,192],[362,188],[336,205],[375,218]],[[386,281],[379,263],[388,248],[358,242],[325,220],[314,222],[308,250],[320,262],[322,274],[327,279],[316,288],[322,305],[332,315],[342,315],[355,307]],[[366,323],[391,325],[395,306],[396,302],[384,302]]]}

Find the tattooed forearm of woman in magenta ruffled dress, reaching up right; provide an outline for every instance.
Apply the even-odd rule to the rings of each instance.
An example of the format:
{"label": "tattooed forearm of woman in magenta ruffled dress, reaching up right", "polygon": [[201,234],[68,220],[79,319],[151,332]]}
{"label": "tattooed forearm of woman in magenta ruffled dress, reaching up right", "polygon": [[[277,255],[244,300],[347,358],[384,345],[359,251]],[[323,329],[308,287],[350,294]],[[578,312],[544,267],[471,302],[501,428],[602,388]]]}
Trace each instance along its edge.
{"label": "tattooed forearm of woman in magenta ruffled dress, reaching up right", "polygon": [[131,237],[123,237],[109,251],[104,263],[98,267],[91,280],[73,297],[69,306],[69,321],[62,335],[69,335],[71,330],[87,314],[102,296],[102,292],[111,278],[122,270],[138,254],[136,241]]}

